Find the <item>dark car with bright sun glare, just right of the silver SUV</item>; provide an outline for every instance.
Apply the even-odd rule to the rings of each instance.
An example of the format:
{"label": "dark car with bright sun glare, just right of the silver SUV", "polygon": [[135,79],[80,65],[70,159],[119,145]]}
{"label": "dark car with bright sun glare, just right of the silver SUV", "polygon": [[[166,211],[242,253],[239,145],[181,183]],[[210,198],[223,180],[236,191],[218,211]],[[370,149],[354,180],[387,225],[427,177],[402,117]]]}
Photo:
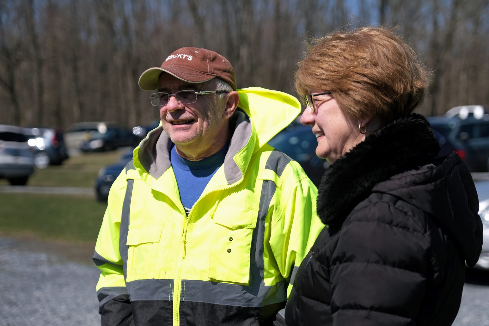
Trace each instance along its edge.
{"label": "dark car with bright sun glare, just right of the silver SUV", "polygon": [[25,128],[27,144],[34,150],[34,166],[45,169],[49,165],[60,165],[66,160],[68,150],[61,130],[53,128]]}

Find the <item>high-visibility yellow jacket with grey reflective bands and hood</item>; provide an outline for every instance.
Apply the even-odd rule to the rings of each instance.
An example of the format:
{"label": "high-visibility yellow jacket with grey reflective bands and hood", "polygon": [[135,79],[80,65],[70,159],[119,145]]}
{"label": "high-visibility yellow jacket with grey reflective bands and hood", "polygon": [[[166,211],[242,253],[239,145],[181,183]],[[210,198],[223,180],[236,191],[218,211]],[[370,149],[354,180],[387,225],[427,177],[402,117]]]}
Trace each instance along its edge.
{"label": "high-visibility yellow jacket with grey reflective bands and hood", "polygon": [[[185,213],[162,127],[111,187],[93,261],[102,325],[271,325],[324,227],[317,189],[269,145],[298,101],[239,90],[224,163]],[[118,324],[119,323],[119,324]]]}

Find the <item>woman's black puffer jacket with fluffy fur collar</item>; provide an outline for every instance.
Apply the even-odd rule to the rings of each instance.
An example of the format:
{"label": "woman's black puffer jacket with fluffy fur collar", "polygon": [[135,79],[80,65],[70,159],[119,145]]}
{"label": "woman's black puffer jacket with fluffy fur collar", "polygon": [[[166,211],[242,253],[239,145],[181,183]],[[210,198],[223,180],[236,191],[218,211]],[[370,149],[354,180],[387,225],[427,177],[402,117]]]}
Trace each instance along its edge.
{"label": "woman's black puffer jacket with fluffy fur collar", "polygon": [[472,178],[413,114],[371,134],[323,176],[329,225],[302,262],[287,325],[451,325],[482,247]]}

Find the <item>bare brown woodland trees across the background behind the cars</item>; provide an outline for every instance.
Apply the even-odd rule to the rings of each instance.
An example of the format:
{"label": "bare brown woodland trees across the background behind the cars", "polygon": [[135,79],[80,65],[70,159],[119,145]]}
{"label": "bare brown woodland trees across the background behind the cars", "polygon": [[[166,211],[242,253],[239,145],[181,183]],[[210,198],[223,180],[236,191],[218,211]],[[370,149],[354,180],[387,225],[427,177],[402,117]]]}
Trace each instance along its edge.
{"label": "bare brown woodland trees across the background behind the cars", "polygon": [[[433,115],[489,105],[489,0],[4,0],[0,1],[1,122],[67,127],[84,120],[149,123],[137,87],[181,46],[212,48],[239,87],[293,92],[311,37],[358,25],[397,25],[434,71],[419,109]],[[358,16],[359,15],[359,16]],[[357,17],[359,22],[352,22]],[[347,25],[349,23],[349,25]],[[34,103],[35,102],[35,103]]]}

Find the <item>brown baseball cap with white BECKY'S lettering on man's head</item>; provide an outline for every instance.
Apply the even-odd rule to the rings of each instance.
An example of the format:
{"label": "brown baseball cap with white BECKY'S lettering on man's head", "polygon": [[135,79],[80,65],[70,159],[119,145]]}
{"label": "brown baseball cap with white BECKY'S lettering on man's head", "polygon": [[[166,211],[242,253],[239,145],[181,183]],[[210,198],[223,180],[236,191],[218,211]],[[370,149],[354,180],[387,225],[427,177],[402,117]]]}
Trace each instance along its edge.
{"label": "brown baseball cap with white BECKY'S lettering on man's head", "polygon": [[203,83],[218,77],[236,90],[236,76],[229,61],[217,52],[192,46],[175,50],[161,66],[144,71],[139,77],[139,87],[158,89],[161,72],[167,72],[188,83]]}

